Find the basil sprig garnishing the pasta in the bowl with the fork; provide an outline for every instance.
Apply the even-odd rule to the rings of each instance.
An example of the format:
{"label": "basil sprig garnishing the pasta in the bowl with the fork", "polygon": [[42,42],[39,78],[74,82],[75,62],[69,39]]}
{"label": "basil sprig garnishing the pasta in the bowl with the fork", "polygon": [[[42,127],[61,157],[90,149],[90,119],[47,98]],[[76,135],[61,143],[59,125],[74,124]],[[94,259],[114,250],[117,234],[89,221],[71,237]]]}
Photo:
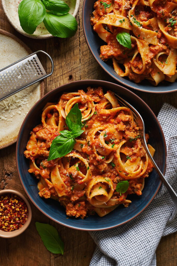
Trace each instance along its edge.
{"label": "basil sprig garnishing the pasta in the bowl with the fork", "polygon": [[81,130],[82,114],[78,103],[70,110],[66,117],[66,124],[69,130],[59,131],[51,144],[48,161],[61,158],[72,151],[76,143],[75,138],[79,137],[84,130]]}

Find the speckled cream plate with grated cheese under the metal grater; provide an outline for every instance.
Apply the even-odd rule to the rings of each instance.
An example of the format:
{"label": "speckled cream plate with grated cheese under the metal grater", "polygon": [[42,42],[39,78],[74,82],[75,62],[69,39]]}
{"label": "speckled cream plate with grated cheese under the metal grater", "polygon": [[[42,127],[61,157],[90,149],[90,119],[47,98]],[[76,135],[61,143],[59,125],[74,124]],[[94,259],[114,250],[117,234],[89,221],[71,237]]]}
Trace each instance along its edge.
{"label": "speckled cream plate with grated cheese under the metal grater", "polygon": [[[16,36],[0,30],[0,69],[31,54],[32,51]],[[16,142],[25,116],[44,95],[44,81],[0,102],[0,149]]]}

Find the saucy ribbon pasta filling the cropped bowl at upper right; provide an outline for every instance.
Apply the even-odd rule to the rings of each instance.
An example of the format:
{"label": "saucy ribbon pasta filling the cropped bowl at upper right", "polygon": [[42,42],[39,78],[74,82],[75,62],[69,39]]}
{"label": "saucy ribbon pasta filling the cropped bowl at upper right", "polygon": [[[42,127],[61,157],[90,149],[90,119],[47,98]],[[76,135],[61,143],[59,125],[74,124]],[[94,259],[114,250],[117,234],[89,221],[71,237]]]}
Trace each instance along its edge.
{"label": "saucy ribbon pasta filling the cropped bowl at upper right", "polygon": [[[176,22],[176,0],[98,0],[90,16],[93,30],[106,43],[101,59],[112,59],[120,77],[136,83],[147,79],[154,86],[176,80]],[[128,41],[122,41],[125,33]]]}

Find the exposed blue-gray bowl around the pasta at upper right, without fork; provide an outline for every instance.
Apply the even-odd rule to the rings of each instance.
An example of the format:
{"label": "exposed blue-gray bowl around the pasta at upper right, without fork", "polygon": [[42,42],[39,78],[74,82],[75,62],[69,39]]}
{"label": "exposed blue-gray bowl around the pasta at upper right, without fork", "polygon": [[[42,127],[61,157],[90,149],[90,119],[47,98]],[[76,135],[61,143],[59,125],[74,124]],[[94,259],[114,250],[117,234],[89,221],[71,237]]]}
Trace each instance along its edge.
{"label": "exposed blue-gray bowl around the pasta at upper right, without fork", "polygon": [[90,24],[90,14],[94,11],[93,5],[95,0],[85,0],[83,4],[83,29],[85,39],[87,41],[88,47],[100,64],[100,66],[116,81],[124,84],[124,86],[128,86],[133,89],[145,91],[145,92],[153,92],[153,93],[165,93],[165,92],[172,92],[177,90],[176,82],[171,83],[168,81],[160,82],[157,86],[153,86],[148,80],[144,80],[139,84],[136,84],[133,81],[130,81],[128,77],[120,77],[113,68],[112,60],[108,60],[104,62],[100,58],[100,46],[106,45],[106,43],[98,36],[98,34],[93,30],[93,26]]}

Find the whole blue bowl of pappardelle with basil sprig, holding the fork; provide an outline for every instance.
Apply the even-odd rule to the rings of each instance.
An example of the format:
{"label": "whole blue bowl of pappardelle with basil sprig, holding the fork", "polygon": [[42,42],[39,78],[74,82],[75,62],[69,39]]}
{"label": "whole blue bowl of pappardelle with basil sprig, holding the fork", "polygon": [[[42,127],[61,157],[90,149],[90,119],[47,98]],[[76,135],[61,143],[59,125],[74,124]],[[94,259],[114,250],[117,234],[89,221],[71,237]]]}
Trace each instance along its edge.
{"label": "whole blue bowl of pappardelle with basil sprig, holding the fork", "polygon": [[166,144],[156,116],[134,93],[110,82],[62,85],[42,97],[21,126],[16,164],[23,188],[42,213],[64,226],[122,225],[160,188],[132,113],[114,93],[142,115],[149,150],[164,172]]}

